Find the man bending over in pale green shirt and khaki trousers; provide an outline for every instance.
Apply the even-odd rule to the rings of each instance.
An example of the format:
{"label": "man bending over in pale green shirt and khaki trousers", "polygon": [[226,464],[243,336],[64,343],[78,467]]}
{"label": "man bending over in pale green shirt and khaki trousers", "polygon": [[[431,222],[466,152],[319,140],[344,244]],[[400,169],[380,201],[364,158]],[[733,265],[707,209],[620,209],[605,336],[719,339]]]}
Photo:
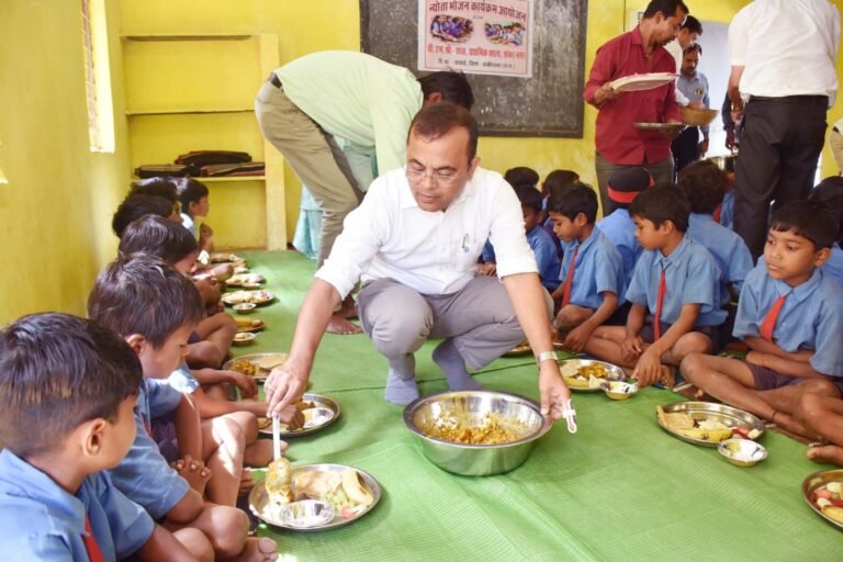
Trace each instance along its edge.
{"label": "man bending over in pale green shirt and khaki trousers", "polygon": [[[470,110],[474,97],[460,72],[417,79],[406,68],[350,50],[296,58],[263,83],[255,101],[263,136],[284,155],[323,211],[317,267],[373,177],[404,164],[413,115],[423,103],[437,101]],[[345,318],[353,311],[350,296],[344,305],[345,314],[331,318],[328,331],[360,331]]]}

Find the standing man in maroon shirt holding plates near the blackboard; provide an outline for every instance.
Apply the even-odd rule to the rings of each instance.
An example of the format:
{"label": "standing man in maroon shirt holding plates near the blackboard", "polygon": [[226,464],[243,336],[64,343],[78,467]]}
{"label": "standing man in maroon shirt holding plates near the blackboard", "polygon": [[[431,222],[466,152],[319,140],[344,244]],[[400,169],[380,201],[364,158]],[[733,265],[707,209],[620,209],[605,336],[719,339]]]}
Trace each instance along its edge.
{"label": "standing man in maroon shirt holding plates near the blackboard", "polygon": [[633,92],[619,92],[610,83],[630,75],[675,72],[676,61],[664,45],[676,37],[687,15],[682,0],[652,0],[634,30],[597,49],[583,97],[599,110],[595,159],[604,216],[614,211],[606,186],[616,171],[643,167],[656,182],[673,180],[675,133],[642,131],[633,123],[681,123],[675,82]]}

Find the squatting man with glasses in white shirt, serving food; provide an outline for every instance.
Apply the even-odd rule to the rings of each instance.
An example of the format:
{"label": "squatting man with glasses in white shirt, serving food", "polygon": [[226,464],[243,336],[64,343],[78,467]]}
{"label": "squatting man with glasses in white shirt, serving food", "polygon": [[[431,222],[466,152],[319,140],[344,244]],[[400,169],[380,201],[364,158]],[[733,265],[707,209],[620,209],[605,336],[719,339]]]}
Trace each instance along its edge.
{"label": "squatting man with glasses in white shirt, serving food", "polygon": [[[389,363],[385,398],[418,397],[414,352],[428,338],[454,390],[524,340],[536,352],[541,409],[559,418],[571,397],[550,334],[551,303],[527,244],[521,207],[495,172],[479,168],[477,125],[452,103],[424,108],[407,138],[406,168],[379,177],[351,212],[304,299],[290,357],[266,383],[270,412],[304,392],[333,306],[362,280],[360,321]],[[474,277],[486,239],[497,276]]]}

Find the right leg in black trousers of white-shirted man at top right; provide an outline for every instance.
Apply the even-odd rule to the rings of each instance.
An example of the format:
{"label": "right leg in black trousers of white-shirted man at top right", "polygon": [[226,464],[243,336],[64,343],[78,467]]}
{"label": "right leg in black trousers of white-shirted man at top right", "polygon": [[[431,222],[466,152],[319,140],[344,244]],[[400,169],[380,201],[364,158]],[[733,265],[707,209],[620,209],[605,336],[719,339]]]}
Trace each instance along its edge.
{"label": "right leg in black trousers of white-shirted man at top right", "polygon": [[782,171],[774,192],[774,209],[808,199],[817,176],[817,162],[825,142],[825,111],[828,98],[813,97],[807,101],[782,103],[782,113],[788,116],[786,144],[780,150]]}

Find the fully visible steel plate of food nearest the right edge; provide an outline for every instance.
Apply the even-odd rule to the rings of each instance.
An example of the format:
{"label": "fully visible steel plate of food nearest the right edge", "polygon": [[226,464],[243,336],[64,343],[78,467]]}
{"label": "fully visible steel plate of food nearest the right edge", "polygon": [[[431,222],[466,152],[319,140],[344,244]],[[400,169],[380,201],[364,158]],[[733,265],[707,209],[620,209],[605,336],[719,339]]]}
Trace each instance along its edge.
{"label": "fully visible steel plate of food nearest the right edge", "polygon": [[694,445],[717,447],[720,441],[739,437],[757,439],[764,434],[764,424],[742,409],[711,402],[676,402],[655,407],[659,425],[673,435]]}

